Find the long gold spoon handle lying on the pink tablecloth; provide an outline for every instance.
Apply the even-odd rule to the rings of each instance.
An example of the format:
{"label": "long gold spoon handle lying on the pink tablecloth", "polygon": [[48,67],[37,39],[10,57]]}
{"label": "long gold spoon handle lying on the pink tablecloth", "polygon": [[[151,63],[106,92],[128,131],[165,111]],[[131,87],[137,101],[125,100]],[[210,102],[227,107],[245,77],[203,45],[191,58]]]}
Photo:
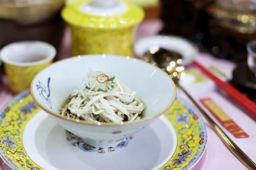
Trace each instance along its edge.
{"label": "long gold spoon handle lying on the pink tablecloth", "polygon": [[207,119],[207,121],[212,125],[214,131],[217,133],[217,135],[220,137],[222,142],[228,147],[228,149],[248,168],[249,170],[256,170],[256,164],[232,141],[222,129],[212,120],[212,118],[202,109],[201,106],[198,105],[198,103],[188,94],[188,92],[181,86],[178,85],[180,89],[190,98],[190,100],[196,105],[196,107],[201,111],[202,115]]}

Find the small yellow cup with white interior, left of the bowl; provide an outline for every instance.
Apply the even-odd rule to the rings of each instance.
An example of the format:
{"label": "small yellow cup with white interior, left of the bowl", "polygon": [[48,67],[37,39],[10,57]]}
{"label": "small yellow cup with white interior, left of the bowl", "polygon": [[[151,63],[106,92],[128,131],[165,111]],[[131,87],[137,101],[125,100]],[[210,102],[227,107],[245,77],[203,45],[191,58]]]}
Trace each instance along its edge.
{"label": "small yellow cup with white interior, left of the bowl", "polygon": [[42,41],[20,41],[3,47],[0,57],[12,91],[29,88],[34,76],[49,66],[55,55],[56,49]]}

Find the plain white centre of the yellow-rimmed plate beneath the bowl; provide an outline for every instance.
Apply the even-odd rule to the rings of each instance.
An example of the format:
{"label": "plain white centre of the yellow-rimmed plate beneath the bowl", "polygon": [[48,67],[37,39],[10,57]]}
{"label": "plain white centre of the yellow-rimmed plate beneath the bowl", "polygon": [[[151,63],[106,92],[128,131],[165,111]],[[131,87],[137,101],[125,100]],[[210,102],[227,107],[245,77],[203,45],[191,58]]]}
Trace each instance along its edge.
{"label": "plain white centre of the yellow-rimmed plate beneath the bowl", "polygon": [[131,140],[126,139],[126,147],[111,152],[102,149],[104,153],[99,153],[103,151],[98,148],[94,152],[85,152],[82,150],[86,150],[85,147],[72,145],[74,142],[83,146],[84,142],[79,139],[68,141],[68,136],[65,129],[40,111],[26,125],[23,144],[33,161],[49,170],[157,169],[168,161],[166,158],[172,156],[177,145],[175,130],[165,117],[160,117]]}

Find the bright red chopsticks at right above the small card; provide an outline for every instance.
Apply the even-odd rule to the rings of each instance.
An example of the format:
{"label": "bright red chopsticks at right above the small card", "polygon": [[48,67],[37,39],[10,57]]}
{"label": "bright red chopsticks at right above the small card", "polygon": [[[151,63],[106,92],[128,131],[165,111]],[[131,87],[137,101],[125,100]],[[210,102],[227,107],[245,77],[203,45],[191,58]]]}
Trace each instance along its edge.
{"label": "bright red chopsticks at right above the small card", "polygon": [[207,68],[202,66],[202,64],[194,61],[193,62],[194,66],[200,68],[200,70],[209,76],[219,88],[224,90],[229,96],[231,96],[236,102],[238,102],[241,106],[246,108],[250,113],[251,116],[256,119],[256,104],[252,102],[252,100],[248,99],[246,96],[244,96],[241,92],[236,90],[231,84],[228,82],[224,82],[220,80],[218,77],[216,77],[214,74],[212,74]]}

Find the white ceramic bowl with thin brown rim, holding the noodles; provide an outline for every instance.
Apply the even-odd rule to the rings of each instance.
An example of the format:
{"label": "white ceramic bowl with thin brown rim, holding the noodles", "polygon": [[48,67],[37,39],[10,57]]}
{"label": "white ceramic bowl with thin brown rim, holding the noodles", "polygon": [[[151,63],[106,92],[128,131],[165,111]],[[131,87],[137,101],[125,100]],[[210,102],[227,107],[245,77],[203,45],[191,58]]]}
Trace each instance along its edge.
{"label": "white ceramic bowl with thin brown rim, holding the noodles", "polygon": [[[68,120],[59,115],[58,110],[69,94],[80,86],[89,68],[111,72],[136,91],[146,105],[145,117],[120,125]],[[165,72],[139,59],[113,55],[85,55],[56,62],[39,72],[30,88],[34,101],[50,117],[94,147],[117,145],[140,131],[172,106],[176,97],[175,85]]]}

